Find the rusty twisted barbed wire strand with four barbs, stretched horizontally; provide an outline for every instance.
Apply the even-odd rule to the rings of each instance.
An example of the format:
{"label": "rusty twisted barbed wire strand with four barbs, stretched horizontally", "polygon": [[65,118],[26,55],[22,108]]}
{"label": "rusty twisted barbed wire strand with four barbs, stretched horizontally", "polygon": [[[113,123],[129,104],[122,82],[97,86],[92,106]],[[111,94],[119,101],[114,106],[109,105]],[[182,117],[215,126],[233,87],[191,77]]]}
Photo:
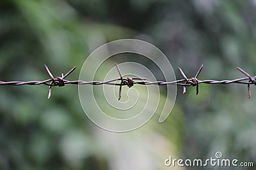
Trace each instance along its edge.
{"label": "rusty twisted barbed wire strand with four barbs, stretched horizontally", "polygon": [[[237,67],[237,69],[239,71],[241,71],[241,73],[246,75],[245,78],[237,78],[237,79],[234,79],[234,80],[198,80],[198,75],[201,73],[201,71],[204,67],[204,64],[202,64],[202,66],[198,69],[197,73],[195,74],[195,77],[193,77],[193,78],[188,78],[186,76],[186,74],[184,73],[184,71],[182,71],[182,69],[179,67],[179,71],[182,74],[183,79],[175,80],[175,81],[146,81],[147,78],[138,78],[138,77],[124,78],[122,76],[120,68],[118,67],[117,64],[115,64],[120,78],[115,78],[115,79],[108,80],[108,81],[81,81],[81,80],[69,81],[69,80],[65,80],[65,78],[69,74],[71,74],[76,69],[76,67],[73,67],[72,69],[70,69],[70,71],[68,71],[67,74],[64,75],[63,73],[61,73],[60,77],[54,78],[54,76],[52,75],[49,68],[46,65],[44,65],[44,66],[45,66],[45,69],[46,69],[47,73],[51,77],[47,80],[44,80],[44,81],[0,81],[0,85],[47,85],[47,86],[49,86],[48,99],[51,97],[51,88],[55,87],[55,86],[63,87],[66,84],[73,84],[73,85],[103,85],[103,84],[118,85],[118,86],[120,86],[119,94],[118,94],[119,95],[118,100],[121,99],[122,87],[123,86],[127,86],[127,87],[130,88],[135,84],[138,84],[138,85],[179,85],[179,86],[183,86],[183,94],[186,92],[186,87],[193,86],[193,87],[196,87],[196,95],[198,95],[198,93],[199,93],[199,84],[200,83],[225,84],[225,85],[231,84],[231,83],[238,83],[238,84],[247,85],[248,98],[249,99],[251,97],[250,85],[256,85],[256,76],[250,76],[250,74],[246,73],[246,71],[244,71],[240,67]],[[116,81],[120,81],[120,83],[116,83]]]}

